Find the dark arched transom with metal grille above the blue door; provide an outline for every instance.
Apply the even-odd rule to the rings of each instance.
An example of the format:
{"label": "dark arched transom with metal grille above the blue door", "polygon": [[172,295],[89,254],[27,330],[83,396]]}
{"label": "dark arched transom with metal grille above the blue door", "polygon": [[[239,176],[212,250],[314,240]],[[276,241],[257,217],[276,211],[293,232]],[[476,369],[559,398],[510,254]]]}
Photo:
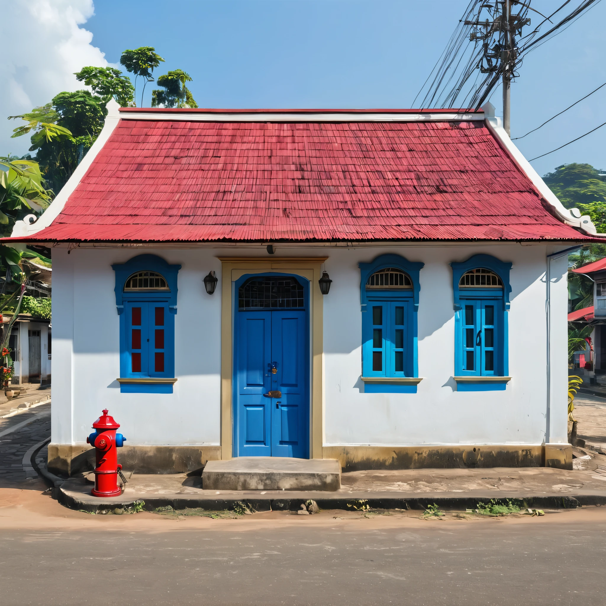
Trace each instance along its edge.
{"label": "dark arched transom with metal grille above the blue door", "polygon": [[296,309],[305,307],[303,287],[295,278],[259,276],[238,288],[238,309]]}

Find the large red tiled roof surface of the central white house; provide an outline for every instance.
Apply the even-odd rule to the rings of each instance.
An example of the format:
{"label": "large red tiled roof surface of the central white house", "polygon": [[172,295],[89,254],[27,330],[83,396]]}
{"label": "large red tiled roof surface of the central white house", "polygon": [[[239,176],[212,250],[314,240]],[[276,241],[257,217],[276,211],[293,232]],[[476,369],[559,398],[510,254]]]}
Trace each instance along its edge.
{"label": "large red tiled roof surface of the central white house", "polygon": [[11,240],[588,240],[550,214],[484,121],[171,121],[171,111],[181,110],[150,120],[122,109],[50,227]]}

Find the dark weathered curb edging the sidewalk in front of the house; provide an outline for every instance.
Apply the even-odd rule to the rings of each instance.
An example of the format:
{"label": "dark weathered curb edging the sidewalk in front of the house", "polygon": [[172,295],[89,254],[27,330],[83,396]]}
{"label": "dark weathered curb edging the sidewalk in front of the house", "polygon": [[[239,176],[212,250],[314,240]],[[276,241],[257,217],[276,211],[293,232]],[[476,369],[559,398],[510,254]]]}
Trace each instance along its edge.
{"label": "dark weathered curb edging the sidewalk in front of the house", "polygon": [[[63,487],[58,490],[58,501],[70,509],[87,511],[88,513],[97,513],[98,511],[107,511],[113,508],[128,510],[135,505],[138,500],[144,501],[144,510],[153,511],[158,507],[170,506],[175,510],[185,508],[201,508],[207,511],[233,510],[238,502],[247,504],[254,511],[297,511],[301,505],[308,499],[313,499],[321,509],[343,509],[347,511],[355,510],[349,505],[355,505],[358,499],[364,499],[368,507],[373,509],[416,509],[425,510],[428,505],[437,504],[443,510],[465,510],[474,509],[478,502],[488,502],[494,499],[494,493],[487,494],[484,497],[478,496],[418,496],[418,497],[375,497],[368,493],[353,493],[348,497],[339,496],[319,496],[321,493],[310,492],[305,496],[299,493],[297,496],[288,498],[250,498],[250,493],[242,494],[240,498],[229,496],[228,498],[217,498],[211,496],[193,496],[190,498],[164,497],[164,496],[145,496],[141,499],[103,499],[98,498],[93,502],[87,495],[87,498],[78,498],[73,491],[66,491]],[[606,493],[598,495],[549,495],[549,496],[501,496],[500,499],[511,499],[523,501],[524,507],[542,508],[542,509],[575,509],[583,505],[606,505]]]}

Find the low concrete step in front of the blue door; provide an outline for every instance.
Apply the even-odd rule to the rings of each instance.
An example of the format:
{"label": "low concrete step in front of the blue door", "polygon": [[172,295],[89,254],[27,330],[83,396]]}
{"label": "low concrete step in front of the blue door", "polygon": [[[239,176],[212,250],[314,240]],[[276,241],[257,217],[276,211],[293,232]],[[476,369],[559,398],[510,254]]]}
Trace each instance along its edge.
{"label": "low concrete step in front of the blue door", "polygon": [[250,456],[208,461],[204,490],[339,490],[341,466],[336,459]]}

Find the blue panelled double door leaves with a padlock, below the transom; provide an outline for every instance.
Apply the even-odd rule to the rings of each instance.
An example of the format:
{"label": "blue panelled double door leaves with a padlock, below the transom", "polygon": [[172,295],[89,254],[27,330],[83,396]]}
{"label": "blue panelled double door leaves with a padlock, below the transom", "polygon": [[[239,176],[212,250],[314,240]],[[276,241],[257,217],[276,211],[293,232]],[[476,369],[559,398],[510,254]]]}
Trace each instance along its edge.
{"label": "blue panelled double door leaves with a padlock, below the transom", "polygon": [[307,458],[305,311],[239,311],[235,339],[237,456]]}

